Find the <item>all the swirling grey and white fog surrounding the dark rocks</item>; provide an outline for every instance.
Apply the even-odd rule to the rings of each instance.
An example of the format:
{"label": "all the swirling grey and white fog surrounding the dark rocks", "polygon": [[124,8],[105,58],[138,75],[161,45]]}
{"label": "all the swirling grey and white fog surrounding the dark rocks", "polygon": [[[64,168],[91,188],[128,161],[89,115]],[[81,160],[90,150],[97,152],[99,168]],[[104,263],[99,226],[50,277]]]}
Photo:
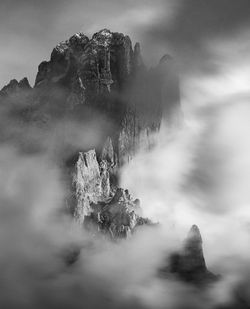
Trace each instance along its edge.
{"label": "all the swirling grey and white fog surrounding the dark rocks", "polygon": [[[39,127],[16,122],[12,107],[1,106],[0,307],[234,308],[238,294],[249,306],[248,1],[32,3],[1,2],[15,21],[1,19],[3,41],[11,38],[1,50],[2,82],[25,70],[33,78],[48,50],[74,32],[118,27],[142,39],[149,64],[173,55],[184,121],[172,129],[163,121],[155,148],[139,151],[121,172],[121,186],[140,198],[144,216],[160,224],[111,243],[94,240],[62,211],[67,192],[57,164],[99,145],[109,119],[57,119]],[[46,24],[53,31],[45,31]],[[20,42],[24,48],[15,58]],[[21,58],[29,57],[29,46],[27,64],[29,58]],[[23,97],[19,102],[25,106]],[[27,145],[32,151],[23,151]],[[157,275],[193,224],[201,230],[209,270],[221,274],[206,290]],[[68,266],[65,255],[75,247],[80,257]]]}

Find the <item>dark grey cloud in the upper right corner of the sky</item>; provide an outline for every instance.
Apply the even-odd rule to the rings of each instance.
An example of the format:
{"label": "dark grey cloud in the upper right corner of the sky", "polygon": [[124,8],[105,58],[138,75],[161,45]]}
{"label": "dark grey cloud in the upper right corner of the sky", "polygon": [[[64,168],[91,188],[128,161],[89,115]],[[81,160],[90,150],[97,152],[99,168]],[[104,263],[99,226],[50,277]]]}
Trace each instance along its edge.
{"label": "dark grey cloud in the upper right corner of the sky", "polygon": [[[249,2],[190,0],[177,3],[171,23],[160,18],[158,24],[146,29],[145,37],[152,44],[165,46],[188,74],[216,72],[220,67],[210,51],[211,40],[236,39],[249,29]],[[166,1],[162,10],[167,12],[168,5]]]}

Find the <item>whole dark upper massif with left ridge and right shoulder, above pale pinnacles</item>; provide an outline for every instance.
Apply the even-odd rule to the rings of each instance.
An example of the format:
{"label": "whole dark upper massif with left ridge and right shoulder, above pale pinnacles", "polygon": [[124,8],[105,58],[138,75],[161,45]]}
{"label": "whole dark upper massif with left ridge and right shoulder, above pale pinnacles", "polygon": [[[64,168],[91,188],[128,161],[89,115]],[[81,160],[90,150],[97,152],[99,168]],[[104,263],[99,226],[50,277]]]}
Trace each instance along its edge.
{"label": "whole dark upper massif with left ridge and right shoulder, above pale pinnacles", "polygon": [[[170,122],[179,113],[179,85],[171,62],[165,57],[147,70],[140,44],[133,48],[128,36],[107,29],[92,38],[78,33],[58,44],[50,60],[39,65],[33,89],[27,79],[11,81],[0,92],[0,101],[1,96],[25,88],[29,96],[22,115],[41,126],[55,119],[88,123],[104,117],[110,126],[104,138],[112,140],[121,166],[141,145],[151,145],[150,133],[159,129],[163,114]],[[93,147],[99,156],[102,145]]]}

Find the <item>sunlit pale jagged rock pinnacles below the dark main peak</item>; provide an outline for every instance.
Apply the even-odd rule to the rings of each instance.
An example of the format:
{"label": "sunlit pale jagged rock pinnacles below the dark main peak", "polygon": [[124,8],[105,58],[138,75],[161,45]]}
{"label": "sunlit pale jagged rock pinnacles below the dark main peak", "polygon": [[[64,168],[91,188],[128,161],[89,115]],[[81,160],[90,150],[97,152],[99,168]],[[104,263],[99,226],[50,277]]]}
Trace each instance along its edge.
{"label": "sunlit pale jagged rock pinnacles below the dark main peak", "polygon": [[94,150],[79,153],[73,176],[74,218],[94,234],[101,232],[111,239],[127,238],[138,226],[152,223],[141,217],[140,201],[110,180],[111,146],[108,140],[100,162]]}

